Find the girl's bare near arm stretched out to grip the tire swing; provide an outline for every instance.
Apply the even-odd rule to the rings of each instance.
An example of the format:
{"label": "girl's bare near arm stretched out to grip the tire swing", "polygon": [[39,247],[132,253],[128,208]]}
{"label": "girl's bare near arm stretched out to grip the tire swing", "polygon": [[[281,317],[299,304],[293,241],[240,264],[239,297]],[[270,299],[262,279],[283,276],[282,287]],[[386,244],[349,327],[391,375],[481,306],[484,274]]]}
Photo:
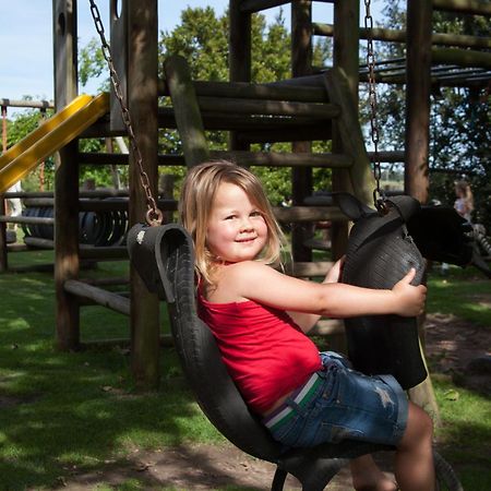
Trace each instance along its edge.
{"label": "girl's bare near arm stretched out to grip the tire swing", "polygon": [[376,314],[415,316],[423,311],[427,291],[422,285],[410,285],[415,274],[411,270],[392,290],[379,290],[340,283],[306,282],[260,262],[244,261],[226,267],[214,301],[249,299],[287,312],[330,318]]}

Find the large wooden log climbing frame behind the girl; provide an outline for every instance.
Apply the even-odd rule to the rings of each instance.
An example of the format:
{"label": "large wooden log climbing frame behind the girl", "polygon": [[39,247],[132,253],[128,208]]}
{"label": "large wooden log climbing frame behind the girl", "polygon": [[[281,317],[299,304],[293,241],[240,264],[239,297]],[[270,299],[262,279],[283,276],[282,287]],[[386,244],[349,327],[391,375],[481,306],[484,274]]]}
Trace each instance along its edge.
{"label": "large wooden log climbing frame behind the girl", "polygon": [[[251,15],[286,3],[291,3],[291,79],[271,84],[251,83]],[[358,118],[358,87],[360,80],[367,80],[367,72],[360,72],[359,67],[360,39],[369,33],[359,27],[359,0],[331,2],[334,3],[334,25],[313,23],[312,3],[310,0],[230,0],[229,82],[208,82],[191,80],[185,60],[172,53],[168,53],[165,62],[165,80],[158,79],[157,9],[165,10],[165,0],[110,2],[111,57],[131,113],[140,159],[133,147],[129,156],[77,151],[76,137],[127,135],[127,125],[113,92],[109,97],[101,95],[91,100],[77,94],[76,19],[77,10],[88,9],[88,2],[85,5],[76,0],[53,0],[55,105],[58,110],[55,118],[59,121],[52,122],[48,140],[43,139],[43,151],[34,152],[41,158],[58,149],[53,224],[57,344],[61,349],[80,347],[81,306],[87,300],[104,304],[130,318],[136,383],[142,387],[158,385],[158,298],[148,292],[134,271],[130,277],[130,298],[80,279],[79,213],[83,206],[79,194],[80,164],[130,165],[130,224],[145,220],[148,197],[145,185],[157,194],[159,166],[190,167],[206,158],[228,158],[252,166],[290,167],[292,206],[277,208],[276,213],[279,220],[292,224],[295,274],[315,276],[330,265],[311,262],[302,224],[332,220],[333,254],[337,256],[344,251],[347,219],[334,206],[320,206],[308,199],[312,193],[312,167],[330,167],[333,191],[349,191],[362,202],[373,203],[375,181],[370,160],[374,157],[366,151]],[[406,32],[373,29],[371,33],[375,39],[405,43],[407,50],[406,60],[390,63],[388,69],[381,65],[376,74],[380,81],[406,84],[406,151],[381,153],[379,157],[383,161],[404,161],[406,192],[424,203],[429,188],[430,91],[435,84],[486,86],[491,69],[491,55],[486,51],[491,47],[490,38],[432,33],[432,12],[489,16],[491,5],[483,1],[408,0],[407,7]],[[314,35],[333,37],[333,68],[327,71],[312,65]],[[475,70],[467,72],[468,67]],[[171,106],[158,106],[158,98],[164,96],[170,97]],[[64,131],[61,115],[79,104],[76,101],[81,108],[74,109],[75,117],[68,118],[71,129]],[[158,154],[161,128],[178,129],[183,155]],[[228,151],[211,152],[205,130],[228,131]],[[70,137],[65,137],[68,134]],[[25,147],[9,151],[11,157],[15,154],[14,158],[1,157],[0,191],[19,178],[20,169],[27,171],[32,167],[34,160],[26,153],[33,151],[34,142],[39,139],[33,134],[32,140],[24,142]],[[314,140],[332,140],[333,153],[312,153]],[[250,149],[252,143],[285,141],[291,142],[291,153],[253,153]],[[100,206],[116,209],[121,204]],[[176,203],[166,201],[160,208],[172,212]],[[0,237],[0,247],[2,241],[4,237]],[[125,251],[120,249],[108,254],[121,255]]]}

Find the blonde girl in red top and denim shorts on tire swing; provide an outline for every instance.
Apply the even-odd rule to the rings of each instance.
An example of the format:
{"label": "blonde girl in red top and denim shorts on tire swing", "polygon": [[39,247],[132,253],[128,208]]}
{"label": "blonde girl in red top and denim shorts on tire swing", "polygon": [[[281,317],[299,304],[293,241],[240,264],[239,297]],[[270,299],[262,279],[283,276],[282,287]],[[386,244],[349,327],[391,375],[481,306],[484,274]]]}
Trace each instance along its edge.
{"label": "blonde girl in red top and denim shorts on tire swing", "polygon": [[[342,262],[323,284],[284,275],[283,235],[259,180],[228,161],[192,168],[179,204],[199,274],[199,314],[213,331],[227,369],[249,407],[286,446],[343,439],[395,445],[403,490],[432,490],[432,422],[391,375],[366,376],[306,335],[321,315],[415,316],[423,286],[411,270],[392,290],[338,283]],[[351,464],[358,490],[396,486],[370,456]]]}

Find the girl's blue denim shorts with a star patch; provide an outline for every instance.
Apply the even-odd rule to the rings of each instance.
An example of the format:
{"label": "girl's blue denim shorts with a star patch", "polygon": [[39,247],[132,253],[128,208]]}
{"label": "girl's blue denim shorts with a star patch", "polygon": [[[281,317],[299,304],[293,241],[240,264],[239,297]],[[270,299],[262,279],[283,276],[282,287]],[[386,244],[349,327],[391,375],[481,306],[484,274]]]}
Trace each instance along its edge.
{"label": "girl's blue denim shorts with a star patch", "polygon": [[392,375],[363,375],[338,354],[320,355],[323,370],[309,379],[312,388],[303,390],[307,396],[296,402],[299,397],[295,395],[302,391],[299,387],[263,419],[273,438],[288,447],[347,439],[396,445],[406,429],[408,412],[406,394],[397,381]]}

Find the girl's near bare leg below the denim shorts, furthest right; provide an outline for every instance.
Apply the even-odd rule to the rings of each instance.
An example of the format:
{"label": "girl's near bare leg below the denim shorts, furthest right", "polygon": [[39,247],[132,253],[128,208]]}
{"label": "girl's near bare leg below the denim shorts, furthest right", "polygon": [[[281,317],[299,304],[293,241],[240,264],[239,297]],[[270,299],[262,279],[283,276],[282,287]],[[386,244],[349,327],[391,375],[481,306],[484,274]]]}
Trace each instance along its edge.
{"label": "girl's near bare leg below the denim shorts, furthest right", "polygon": [[428,414],[409,403],[407,428],[397,445],[395,476],[403,491],[434,491],[433,423]]}

